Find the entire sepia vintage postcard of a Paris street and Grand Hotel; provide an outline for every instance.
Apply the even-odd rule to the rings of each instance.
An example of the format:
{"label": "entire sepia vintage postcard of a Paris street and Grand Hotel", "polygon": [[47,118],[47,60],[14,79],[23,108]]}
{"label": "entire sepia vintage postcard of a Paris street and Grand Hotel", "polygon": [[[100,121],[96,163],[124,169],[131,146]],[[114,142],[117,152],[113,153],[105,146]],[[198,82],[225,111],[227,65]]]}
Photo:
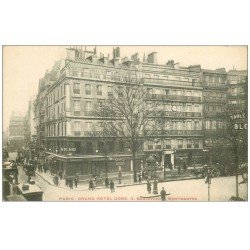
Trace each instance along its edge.
{"label": "entire sepia vintage postcard of a Paris street and Grand Hotel", "polygon": [[247,46],[3,46],[3,201],[248,201]]}

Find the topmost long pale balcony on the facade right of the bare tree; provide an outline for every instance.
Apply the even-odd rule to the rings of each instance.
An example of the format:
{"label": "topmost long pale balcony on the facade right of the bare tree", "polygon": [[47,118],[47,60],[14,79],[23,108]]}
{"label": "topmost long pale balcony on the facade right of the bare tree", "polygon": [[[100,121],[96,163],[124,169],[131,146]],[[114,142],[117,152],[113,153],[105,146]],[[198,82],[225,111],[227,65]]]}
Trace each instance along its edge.
{"label": "topmost long pale balcony on the facade right of the bare tree", "polygon": [[155,79],[155,78],[143,78],[143,83],[146,84],[160,84],[165,86],[184,86],[184,87],[202,87],[200,82],[187,82],[180,80],[167,80],[167,79]]}

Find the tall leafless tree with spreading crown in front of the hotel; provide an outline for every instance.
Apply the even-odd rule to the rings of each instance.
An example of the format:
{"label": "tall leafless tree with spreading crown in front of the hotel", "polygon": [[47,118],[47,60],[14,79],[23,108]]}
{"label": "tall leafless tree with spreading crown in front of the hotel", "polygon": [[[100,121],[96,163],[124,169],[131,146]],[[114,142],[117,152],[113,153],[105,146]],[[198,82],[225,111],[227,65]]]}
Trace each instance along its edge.
{"label": "tall leafless tree with spreading crown in front of the hotel", "polygon": [[103,124],[109,124],[106,128],[130,149],[134,182],[137,182],[136,155],[148,134],[150,113],[157,106],[158,102],[149,100],[143,84],[129,80],[123,85],[115,85],[113,94],[97,110],[98,116],[108,117],[103,120]]}

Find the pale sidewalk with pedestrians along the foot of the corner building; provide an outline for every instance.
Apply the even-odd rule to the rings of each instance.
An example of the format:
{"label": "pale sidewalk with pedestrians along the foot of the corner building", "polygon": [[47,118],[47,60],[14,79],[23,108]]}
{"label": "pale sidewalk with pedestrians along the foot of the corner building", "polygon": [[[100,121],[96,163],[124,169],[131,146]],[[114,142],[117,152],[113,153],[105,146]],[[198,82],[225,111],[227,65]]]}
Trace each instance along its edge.
{"label": "pale sidewalk with pedestrians along the foot of the corner building", "polygon": [[[44,173],[44,172],[38,172],[38,171],[36,171],[36,175],[40,176],[49,185],[55,186],[55,184],[53,183],[53,177],[54,176],[51,175],[50,172]],[[159,180],[159,183],[162,183],[162,182],[172,182],[172,181],[192,180],[192,179],[196,179],[196,177],[193,176],[193,175],[190,175],[190,174],[183,173],[181,175],[167,175],[166,179],[165,180]],[[131,180],[130,180],[130,182],[125,182],[125,181],[126,180],[122,180],[122,184],[118,184],[118,181],[115,181],[115,182],[117,182],[115,184],[115,186],[117,188],[118,187],[122,188],[122,187],[135,186],[135,185],[146,185],[146,183],[147,183],[147,181],[145,181],[145,180],[143,180],[141,182],[137,182],[137,183],[134,183]],[[58,187],[70,190],[70,188],[65,185],[65,180],[64,179],[59,180]],[[77,188],[75,188],[75,186],[74,186],[74,188],[72,189],[72,191],[73,190],[76,190],[76,191],[87,191],[87,190],[89,190],[88,187],[89,187],[88,181],[87,182],[83,181],[83,182],[78,183]],[[96,187],[96,189],[106,189],[106,187],[105,186],[101,186],[101,187]]]}

